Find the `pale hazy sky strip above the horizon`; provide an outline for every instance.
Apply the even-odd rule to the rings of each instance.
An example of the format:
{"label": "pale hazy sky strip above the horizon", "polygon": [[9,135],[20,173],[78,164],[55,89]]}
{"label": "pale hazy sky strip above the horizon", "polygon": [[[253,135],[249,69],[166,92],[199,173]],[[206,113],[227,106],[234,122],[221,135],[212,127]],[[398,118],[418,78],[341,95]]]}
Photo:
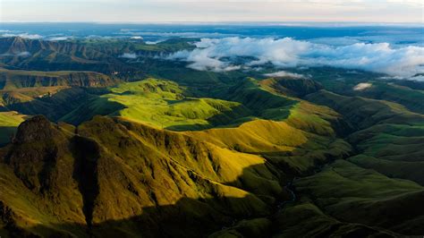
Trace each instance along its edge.
{"label": "pale hazy sky strip above the horizon", "polygon": [[0,21],[423,23],[422,0],[0,0]]}

